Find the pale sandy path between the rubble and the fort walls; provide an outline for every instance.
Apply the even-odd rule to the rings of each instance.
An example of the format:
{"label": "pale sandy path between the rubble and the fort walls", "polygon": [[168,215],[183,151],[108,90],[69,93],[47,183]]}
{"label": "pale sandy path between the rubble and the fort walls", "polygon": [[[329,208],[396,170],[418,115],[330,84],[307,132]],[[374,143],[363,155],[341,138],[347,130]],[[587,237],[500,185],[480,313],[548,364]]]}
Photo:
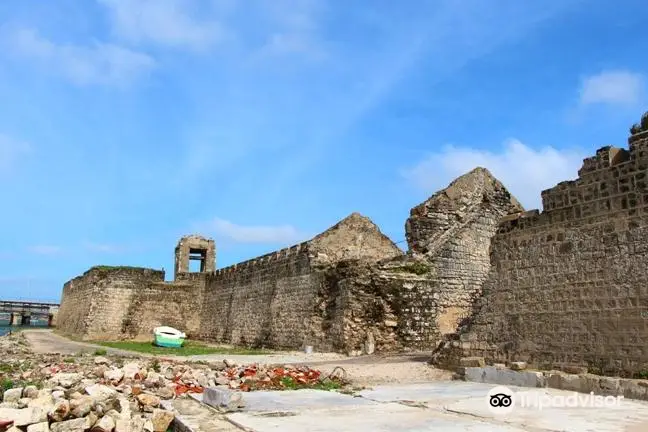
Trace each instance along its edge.
{"label": "pale sandy path between the rubble and the fort walls", "polygon": [[[72,341],[53,333],[51,330],[24,330],[24,334],[32,349],[37,353],[75,354],[78,352],[94,352],[96,349],[105,349],[109,354],[114,355],[153,357],[147,354]],[[268,355],[209,354],[187,357],[168,356],[166,358],[185,361],[206,361],[209,363],[222,362],[224,359],[228,359],[238,364],[308,365],[319,369],[327,375],[332,372],[345,374],[357,386],[421,383],[449,379],[451,375],[448,371],[429,366],[427,364],[429,355],[426,353],[348,357],[335,353],[306,354],[304,352],[290,351]]]}

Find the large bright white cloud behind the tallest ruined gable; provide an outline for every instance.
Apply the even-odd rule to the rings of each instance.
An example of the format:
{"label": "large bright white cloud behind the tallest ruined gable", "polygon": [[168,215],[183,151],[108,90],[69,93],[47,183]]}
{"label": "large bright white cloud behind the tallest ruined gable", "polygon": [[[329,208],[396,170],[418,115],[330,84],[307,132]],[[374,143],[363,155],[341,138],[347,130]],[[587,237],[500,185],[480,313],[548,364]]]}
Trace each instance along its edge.
{"label": "large bright white cloud behind the tallest ruined gable", "polygon": [[511,139],[499,151],[447,146],[431,154],[403,176],[433,194],[475,167],[487,168],[526,209],[542,208],[540,192],[578,175],[586,152],[553,147],[533,149]]}

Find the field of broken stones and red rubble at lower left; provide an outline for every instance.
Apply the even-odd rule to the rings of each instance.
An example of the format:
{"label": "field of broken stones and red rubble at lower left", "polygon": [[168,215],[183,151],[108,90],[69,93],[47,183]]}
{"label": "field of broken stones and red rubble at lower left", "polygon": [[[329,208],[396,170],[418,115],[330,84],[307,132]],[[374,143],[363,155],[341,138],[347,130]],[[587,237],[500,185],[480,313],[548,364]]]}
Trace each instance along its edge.
{"label": "field of broken stones and red rubble at lower left", "polygon": [[18,333],[0,337],[0,422],[13,421],[8,432],[166,432],[175,415],[162,408],[163,400],[202,393],[206,387],[332,390],[345,385],[343,378],[325,377],[308,367],[228,360],[215,365],[34,354]]}

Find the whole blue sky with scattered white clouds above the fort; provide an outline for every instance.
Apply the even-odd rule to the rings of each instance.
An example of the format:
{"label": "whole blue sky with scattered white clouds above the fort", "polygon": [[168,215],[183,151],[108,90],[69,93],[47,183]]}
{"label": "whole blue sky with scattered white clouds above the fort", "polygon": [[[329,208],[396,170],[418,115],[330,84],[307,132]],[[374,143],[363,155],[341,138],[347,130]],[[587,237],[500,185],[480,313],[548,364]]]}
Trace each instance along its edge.
{"label": "whole blue sky with scattered white clouds above the fort", "polygon": [[489,168],[527,208],[648,109],[644,0],[3,0],[0,298],[222,267]]}

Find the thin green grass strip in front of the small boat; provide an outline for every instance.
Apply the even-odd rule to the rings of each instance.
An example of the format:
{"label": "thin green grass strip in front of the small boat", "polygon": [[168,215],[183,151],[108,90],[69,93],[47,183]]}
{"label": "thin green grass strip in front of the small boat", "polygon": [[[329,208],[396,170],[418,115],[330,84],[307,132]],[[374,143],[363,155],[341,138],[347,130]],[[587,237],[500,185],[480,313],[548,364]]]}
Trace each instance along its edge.
{"label": "thin green grass strip in front of the small boat", "polygon": [[247,355],[262,355],[270,354],[270,351],[252,349],[252,348],[223,348],[213,347],[202,344],[196,341],[185,341],[184,345],[180,348],[163,348],[153,345],[152,342],[135,342],[135,341],[116,341],[116,342],[92,342],[97,345],[105,346],[108,348],[117,348],[126,351],[135,351],[146,354],[154,355],[177,355],[177,356],[190,356],[190,355],[204,355],[204,354],[247,354]]}

